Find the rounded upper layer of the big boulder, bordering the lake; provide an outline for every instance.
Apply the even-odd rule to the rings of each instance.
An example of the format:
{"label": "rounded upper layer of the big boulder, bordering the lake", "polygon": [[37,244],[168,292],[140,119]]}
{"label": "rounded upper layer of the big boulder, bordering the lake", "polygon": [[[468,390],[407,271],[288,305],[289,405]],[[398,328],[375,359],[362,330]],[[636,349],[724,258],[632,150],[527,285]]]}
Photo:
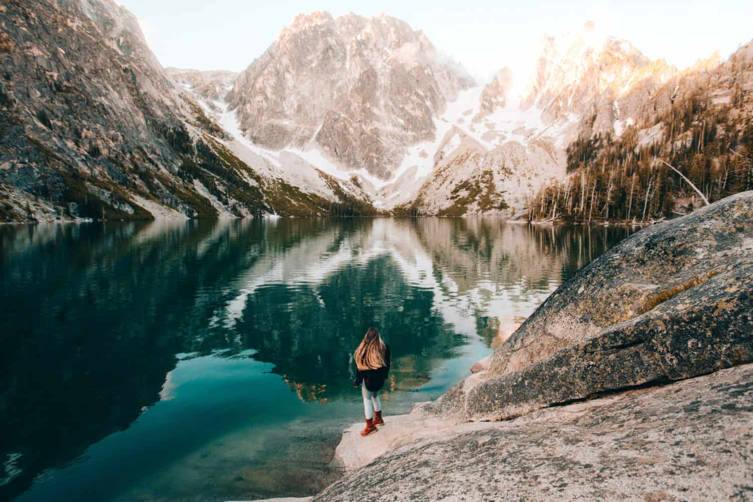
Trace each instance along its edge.
{"label": "rounded upper layer of the big boulder, bordering the lake", "polygon": [[733,271],[751,256],[750,191],[647,227],[593,260],[547,298],[495,352],[490,374],[521,370],[593,338],[650,310],[690,281],[709,272]]}

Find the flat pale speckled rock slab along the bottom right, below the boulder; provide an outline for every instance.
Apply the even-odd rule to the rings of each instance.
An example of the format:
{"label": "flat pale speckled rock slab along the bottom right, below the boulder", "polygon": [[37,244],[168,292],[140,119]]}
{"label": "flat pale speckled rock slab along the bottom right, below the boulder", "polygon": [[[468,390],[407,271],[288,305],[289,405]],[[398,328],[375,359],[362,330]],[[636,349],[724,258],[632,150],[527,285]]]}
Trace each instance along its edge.
{"label": "flat pale speckled rock slab along the bottom right, below the boulder", "polygon": [[749,500],[751,424],[747,364],[425,437],[312,500]]}

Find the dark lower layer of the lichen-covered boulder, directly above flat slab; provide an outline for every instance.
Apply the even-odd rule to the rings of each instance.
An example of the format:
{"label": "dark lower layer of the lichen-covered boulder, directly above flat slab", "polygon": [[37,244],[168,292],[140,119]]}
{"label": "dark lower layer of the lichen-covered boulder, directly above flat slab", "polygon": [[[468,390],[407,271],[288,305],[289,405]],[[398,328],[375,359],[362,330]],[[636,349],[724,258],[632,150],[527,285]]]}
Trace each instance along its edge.
{"label": "dark lower layer of the lichen-covered boulder, directly above flat slab", "polygon": [[753,259],[586,342],[468,391],[465,415],[533,409],[753,361]]}

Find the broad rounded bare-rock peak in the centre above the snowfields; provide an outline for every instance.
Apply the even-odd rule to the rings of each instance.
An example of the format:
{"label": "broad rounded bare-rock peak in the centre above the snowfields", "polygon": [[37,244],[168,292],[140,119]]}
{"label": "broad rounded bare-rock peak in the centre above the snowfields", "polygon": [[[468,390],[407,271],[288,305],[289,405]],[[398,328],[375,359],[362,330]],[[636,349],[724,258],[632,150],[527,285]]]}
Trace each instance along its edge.
{"label": "broad rounded bare-rock peak in the centre above the snowfields", "polygon": [[407,146],[434,139],[434,118],[473,84],[400,20],[316,12],[283,29],[229,97],[255,145],[317,148],[386,180]]}

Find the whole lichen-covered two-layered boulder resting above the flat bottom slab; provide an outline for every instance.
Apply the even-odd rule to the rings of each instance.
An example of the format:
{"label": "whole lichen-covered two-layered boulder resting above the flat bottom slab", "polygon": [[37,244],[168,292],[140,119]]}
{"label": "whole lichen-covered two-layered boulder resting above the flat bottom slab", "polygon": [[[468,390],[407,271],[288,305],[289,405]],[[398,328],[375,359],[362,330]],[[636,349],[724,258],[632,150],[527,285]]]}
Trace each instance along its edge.
{"label": "whole lichen-covered two-layered boulder resting above the flat bottom slab", "polygon": [[586,266],[489,370],[425,410],[512,418],[753,361],[753,192],[649,227]]}

